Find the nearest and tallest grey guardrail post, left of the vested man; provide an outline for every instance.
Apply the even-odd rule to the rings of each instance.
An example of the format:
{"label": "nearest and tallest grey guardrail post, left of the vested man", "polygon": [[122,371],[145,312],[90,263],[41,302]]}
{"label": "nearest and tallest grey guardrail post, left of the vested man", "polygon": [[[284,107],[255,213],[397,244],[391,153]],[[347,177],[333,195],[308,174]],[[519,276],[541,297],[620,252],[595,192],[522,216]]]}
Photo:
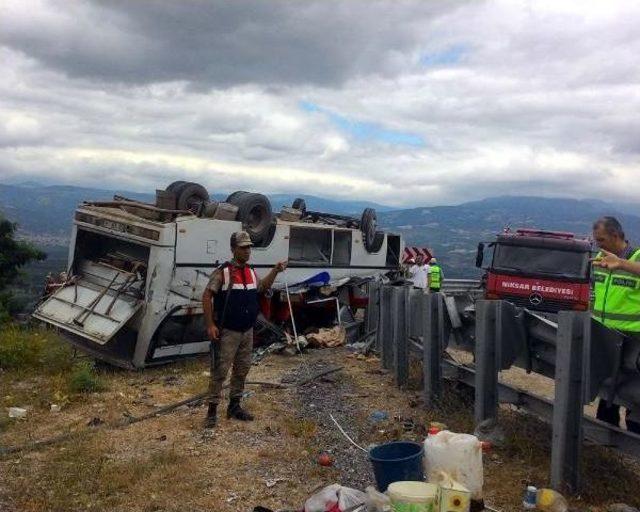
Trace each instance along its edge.
{"label": "nearest and tallest grey guardrail post, left of the vested man", "polygon": [[551,443],[551,486],[560,492],[580,489],[582,414],[585,401],[589,313],[561,311],[556,343],[555,401]]}

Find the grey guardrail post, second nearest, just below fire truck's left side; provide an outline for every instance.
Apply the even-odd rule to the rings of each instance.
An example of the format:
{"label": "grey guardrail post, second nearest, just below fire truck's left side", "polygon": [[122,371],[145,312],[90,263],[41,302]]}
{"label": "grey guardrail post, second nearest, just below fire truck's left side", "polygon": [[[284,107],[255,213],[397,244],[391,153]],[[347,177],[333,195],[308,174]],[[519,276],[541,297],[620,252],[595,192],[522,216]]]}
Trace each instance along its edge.
{"label": "grey guardrail post, second nearest, just below fire truck's left side", "polygon": [[499,302],[476,302],[476,424],[498,415],[497,314]]}

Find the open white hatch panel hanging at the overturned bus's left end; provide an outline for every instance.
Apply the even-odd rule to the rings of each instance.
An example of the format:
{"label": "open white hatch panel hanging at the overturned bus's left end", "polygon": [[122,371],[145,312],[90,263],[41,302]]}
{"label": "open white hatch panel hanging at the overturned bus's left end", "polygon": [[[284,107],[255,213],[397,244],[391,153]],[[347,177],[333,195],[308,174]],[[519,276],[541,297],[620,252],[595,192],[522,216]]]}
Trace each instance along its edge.
{"label": "open white hatch panel hanging at the overturned bus's left end", "polygon": [[33,316],[76,336],[104,345],[138,312],[143,301],[127,294],[130,279],[116,273],[98,285],[86,278],[58,289]]}

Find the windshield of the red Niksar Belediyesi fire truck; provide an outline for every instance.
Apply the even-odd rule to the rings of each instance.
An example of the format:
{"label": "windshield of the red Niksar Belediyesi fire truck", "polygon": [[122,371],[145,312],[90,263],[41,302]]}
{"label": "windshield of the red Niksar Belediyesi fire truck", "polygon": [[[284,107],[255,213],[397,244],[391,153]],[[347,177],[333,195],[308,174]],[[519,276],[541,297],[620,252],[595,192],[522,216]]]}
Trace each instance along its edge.
{"label": "windshield of the red Niksar Belediyesi fire truck", "polygon": [[588,277],[589,253],[497,244],[492,267],[498,271],[585,279]]}

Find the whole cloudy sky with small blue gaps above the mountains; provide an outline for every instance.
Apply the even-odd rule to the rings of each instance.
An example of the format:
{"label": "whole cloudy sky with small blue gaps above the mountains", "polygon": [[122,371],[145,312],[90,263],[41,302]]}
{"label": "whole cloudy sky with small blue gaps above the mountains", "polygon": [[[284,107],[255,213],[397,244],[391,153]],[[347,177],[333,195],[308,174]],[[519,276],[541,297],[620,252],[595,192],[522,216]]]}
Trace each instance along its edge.
{"label": "whole cloudy sky with small blue gaps above the mountains", "polygon": [[640,198],[634,1],[0,7],[0,181]]}

